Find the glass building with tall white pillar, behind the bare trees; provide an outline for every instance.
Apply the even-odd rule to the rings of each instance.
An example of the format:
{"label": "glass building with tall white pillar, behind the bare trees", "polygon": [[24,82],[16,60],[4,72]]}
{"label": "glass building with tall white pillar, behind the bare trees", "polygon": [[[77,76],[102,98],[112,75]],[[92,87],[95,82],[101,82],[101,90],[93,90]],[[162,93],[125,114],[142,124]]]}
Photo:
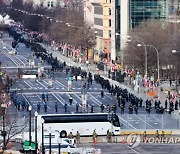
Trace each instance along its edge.
{"label": "glass building with tall white pillar, behind the bare trees", "polygon": [[[161,19],[168,17],[169,0],[112,0],[112,11],[115,18],[112,27],[111,57],[116,60],[120,57],[123,64],[123,49],[126,46],[129,31],[141,22],[148,19]],[[114,35],[120,34],[120,35]]]}

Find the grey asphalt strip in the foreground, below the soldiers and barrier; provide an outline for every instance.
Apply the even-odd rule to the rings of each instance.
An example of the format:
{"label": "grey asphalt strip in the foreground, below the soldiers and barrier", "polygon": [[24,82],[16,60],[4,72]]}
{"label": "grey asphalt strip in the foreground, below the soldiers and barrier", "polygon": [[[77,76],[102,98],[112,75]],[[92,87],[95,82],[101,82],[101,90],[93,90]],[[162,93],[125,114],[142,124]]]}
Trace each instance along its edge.
{"label": "grey asphalt strip in the foreground, below the soldiers and barrier", "polygon": [[122,143],[98,143],[95,146],[80,144],[78,147],[100,148],[102,154],[179,154],[180,144],[143,144],[135,148]]}

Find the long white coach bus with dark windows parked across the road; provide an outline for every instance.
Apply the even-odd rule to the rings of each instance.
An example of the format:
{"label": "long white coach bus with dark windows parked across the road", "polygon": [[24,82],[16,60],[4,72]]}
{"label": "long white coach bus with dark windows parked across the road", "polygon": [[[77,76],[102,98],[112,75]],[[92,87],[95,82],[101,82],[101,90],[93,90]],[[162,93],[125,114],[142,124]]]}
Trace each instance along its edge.
{"label": "long white coach bus with dark windows parked across the road", "polygon": [[51,129],[52,133],[58,134],[60,138],[67,137],[70,132],[76,135],[77,131],[81,136],[91,136],[94,130],[98,135],[107,135],[108,131],[112,131],[114,135],[120,134],[120,122],[116,114],[112,121],[107,113],[38,115],[39,137],[42,135],[42,121],[44,121],[44,135]]}

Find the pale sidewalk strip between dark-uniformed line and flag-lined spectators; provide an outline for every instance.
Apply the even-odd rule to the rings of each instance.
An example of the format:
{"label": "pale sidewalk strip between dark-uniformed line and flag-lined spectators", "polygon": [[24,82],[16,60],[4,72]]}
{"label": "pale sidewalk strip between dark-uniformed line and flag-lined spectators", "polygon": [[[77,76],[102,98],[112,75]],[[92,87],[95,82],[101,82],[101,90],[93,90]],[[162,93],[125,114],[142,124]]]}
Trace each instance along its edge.
{"label": "pale sidewalk strip between dark-uniformed line and flag-lined spectators", "polygon": [[[92,63],[92,64],[89,64],[87,66],[87,64],[84,64],[84,63],[74,62],[72,58],[63,56],[61,51],[52,50],[51,47],[44,45],[44,44],[41,44],[41,45],[47,50],[48,53],[52,53],[53,57],[57,57],[57,59],[59,61],[61,61],[61,62],[66,61],[66,64],[69,66],[81,67],[82,70],[85,70],[87,72],[89,71],[93,75],[94,74],[100,74],[102,77],[104,77],[104,79],[108,79],[111,84],[117,85],[123,89],[127,89],[130,93],[134,94],[137,97],[141,97],[144,101],[146,99],[158,99],[158,98],[153,98],[152,96],[149,96],[149,94],[145,92],[144,87],[140,87],[139,88],[140,92],[138,93],[138,90],[134,90],[132,88],[132,86],[127,86],[125,84],[119,83],[115,80],[108,78],[107,77],[107,71],[98,70],[96,67],[96,64]],[[155,95],[157,95],[157,93],[158,93],[158,90],[156,89]],[[159,87],[159,99],[161,100],[162,105],[164,104],[165,100],[167,99],[167,95],[165,94],[164,91],[163,92],[160,91],[160,87]]]}

